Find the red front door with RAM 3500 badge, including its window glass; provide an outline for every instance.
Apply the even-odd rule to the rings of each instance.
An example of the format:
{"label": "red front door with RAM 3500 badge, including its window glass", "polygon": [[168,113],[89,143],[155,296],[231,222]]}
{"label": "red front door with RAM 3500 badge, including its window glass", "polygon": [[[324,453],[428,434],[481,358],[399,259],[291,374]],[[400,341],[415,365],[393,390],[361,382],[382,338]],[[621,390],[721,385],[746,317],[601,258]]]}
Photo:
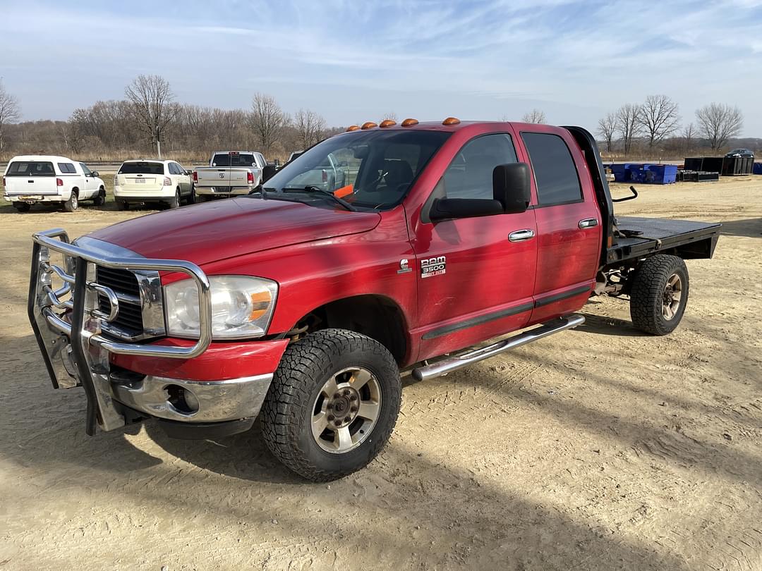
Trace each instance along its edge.
{"label": "red front door with RAM 3500 badge, including its window glass", "polygon": [[[491,199],[493,169],[514,162],[510,134],[478,136],[456,154],[434,193],[440,198]],[[418,257],[419,360],[527,325],[533,309],[535,235],[533,209],[418,227],[413,247]]]}

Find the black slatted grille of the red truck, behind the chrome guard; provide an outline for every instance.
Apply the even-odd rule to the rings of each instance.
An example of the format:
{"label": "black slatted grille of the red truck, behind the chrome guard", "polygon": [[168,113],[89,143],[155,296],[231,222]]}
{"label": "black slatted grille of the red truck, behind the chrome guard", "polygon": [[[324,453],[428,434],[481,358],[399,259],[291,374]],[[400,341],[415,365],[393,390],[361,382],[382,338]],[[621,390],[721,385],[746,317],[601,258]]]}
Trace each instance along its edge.
{"label": "black slatted grille of the red truck, behind the chrome guard", "polygon": [[[140,286],[130,270],[114,270],[96,266],[95,279],[107,288],[113,289],[119,298],[119,313],[104,330],[117,337],[138,337],[143,333],[142,308],[140,306]],[[110,304],[103,294],[98,294],[101,311],[108,313]],[[117,329],[118,328],[118,329]]]}

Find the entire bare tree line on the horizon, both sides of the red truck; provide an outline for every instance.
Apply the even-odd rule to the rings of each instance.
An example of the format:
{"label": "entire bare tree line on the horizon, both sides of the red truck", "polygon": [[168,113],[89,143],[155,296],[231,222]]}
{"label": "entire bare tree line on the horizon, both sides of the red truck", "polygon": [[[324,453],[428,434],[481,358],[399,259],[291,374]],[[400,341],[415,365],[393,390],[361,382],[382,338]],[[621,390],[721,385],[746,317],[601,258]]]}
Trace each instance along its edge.
{"label": "entire bare tree line on the horizon, both sides of the red truck", "polygon": [[[181,104],[159,75],[139,75],[121,100],[96,101],[75,109],[66,121],[18,123],[17,97],[0,83],[0,160],[21,153],[66,154],[90,160],[171,155],[200,160],[214,150],[251,148],[268,159],[284,160],[341,131],[328,127],[313,110],[290,114],[271,95],[257,93],[248,109]],[[395,119],[386,113],[382,119]],[[523,115],[525,123],[545,123],[542,110]],[[641,104],[623,104],[602,117],[597,135],[609,155],[680,155],[699,147],[719,152],[743,127],[738,107],[712,103],[696,110],[695,123],[681,126],[680,108],[667,95],[649,95]]]}

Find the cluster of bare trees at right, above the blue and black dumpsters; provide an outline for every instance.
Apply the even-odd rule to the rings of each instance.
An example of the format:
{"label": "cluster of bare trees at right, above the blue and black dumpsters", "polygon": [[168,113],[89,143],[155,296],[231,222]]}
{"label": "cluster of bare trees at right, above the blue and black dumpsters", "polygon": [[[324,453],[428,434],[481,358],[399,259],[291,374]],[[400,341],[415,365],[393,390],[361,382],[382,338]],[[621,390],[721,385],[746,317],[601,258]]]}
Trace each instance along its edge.
{"label": "cluster of bare trees at right, above the blue and black dumpsters", "polygon": [[[696,110],[696,123],[681,128],[680,107],[667,95],[649,95],[642,104],[624,104],[598,120],[597,135],[606,151],[631,155],[639,151],[653,153],[683,146],[690,152],[696,146],[708,146],[719,152],[744,126],[738,107],[711,103]],[[682,143],[682,145],[681,145]]]}

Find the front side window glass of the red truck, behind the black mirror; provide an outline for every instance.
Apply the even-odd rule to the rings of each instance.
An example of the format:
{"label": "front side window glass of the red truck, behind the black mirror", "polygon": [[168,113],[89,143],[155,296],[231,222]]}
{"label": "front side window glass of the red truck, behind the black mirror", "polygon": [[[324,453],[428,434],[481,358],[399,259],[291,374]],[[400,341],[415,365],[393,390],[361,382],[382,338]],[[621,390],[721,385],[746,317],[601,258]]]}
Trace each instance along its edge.
{"label": "front side window glass of the red truck, behind the black mirror", "polygon": [[498,164],[516,162],[516,149],[505,133],[467,142],[444,173],[447,198],[492,198],[492,171]]}

